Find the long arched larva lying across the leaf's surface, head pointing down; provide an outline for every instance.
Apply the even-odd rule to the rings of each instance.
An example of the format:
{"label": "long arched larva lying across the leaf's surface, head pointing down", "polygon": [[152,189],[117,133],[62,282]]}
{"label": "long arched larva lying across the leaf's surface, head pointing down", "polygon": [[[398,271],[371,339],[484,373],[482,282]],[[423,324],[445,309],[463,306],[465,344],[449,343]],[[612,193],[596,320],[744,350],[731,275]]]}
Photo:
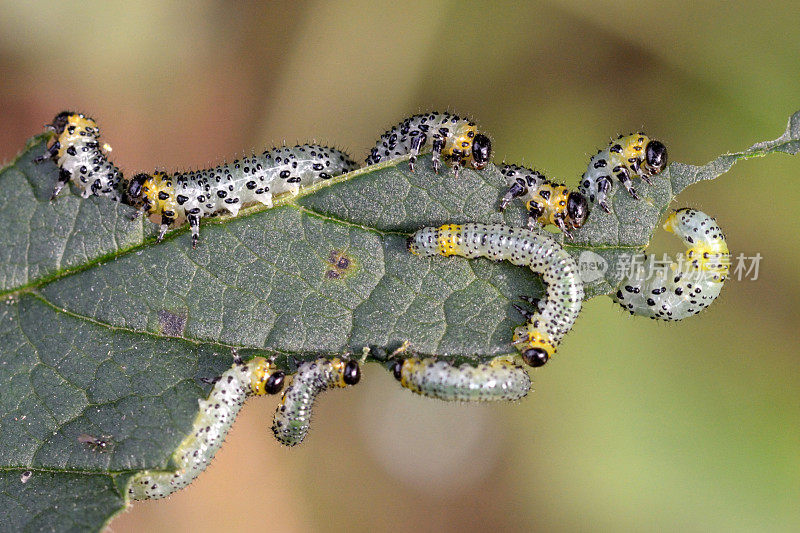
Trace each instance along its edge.
{"label": "long arched larva lying across the leaf's surface, head pointing down", "polygon": [[408,240],[420,256],[459,255],[507,260],[527,266],[547,285],[536,311],[517,309],[527,323],[514,329],[513,343],[530,366],[542,366],[572,328],[583,302],[583,282],[575,260],[551,237],[503,224],[446,224],[423,228]]}

